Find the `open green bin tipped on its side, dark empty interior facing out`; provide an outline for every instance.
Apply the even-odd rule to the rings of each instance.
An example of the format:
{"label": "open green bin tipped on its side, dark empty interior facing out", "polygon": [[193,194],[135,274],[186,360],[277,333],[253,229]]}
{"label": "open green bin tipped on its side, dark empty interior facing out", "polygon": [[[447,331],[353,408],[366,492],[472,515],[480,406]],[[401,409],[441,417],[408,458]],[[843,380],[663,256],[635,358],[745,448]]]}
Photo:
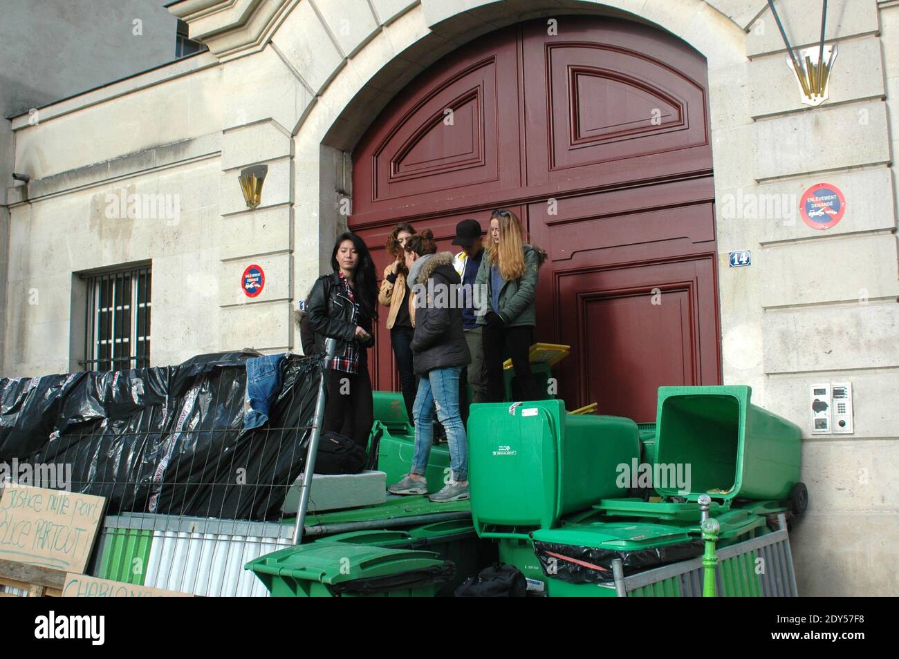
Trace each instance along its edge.
{"label": "open green bin tipped on its side, dark empty interior facing out", "polygon": [[655,484],[661,496],[789,496],[799,480],[802,431],[753,405],[748,386],[660,387],[656,462],[690,466],[690,487]]}

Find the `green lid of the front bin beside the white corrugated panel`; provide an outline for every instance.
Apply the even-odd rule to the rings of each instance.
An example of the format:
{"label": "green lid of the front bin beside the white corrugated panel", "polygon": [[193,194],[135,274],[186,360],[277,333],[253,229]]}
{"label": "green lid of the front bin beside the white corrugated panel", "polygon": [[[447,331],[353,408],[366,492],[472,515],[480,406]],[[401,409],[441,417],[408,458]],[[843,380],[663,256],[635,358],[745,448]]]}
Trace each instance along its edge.
{"label": "green lid of the front bin beside the white corrugated panel", "polygon": [[433,551],[387,549],[349,542],[312,542],[256,558],[245,568],[257,574],[340,584],[442,565],[443,561]]}

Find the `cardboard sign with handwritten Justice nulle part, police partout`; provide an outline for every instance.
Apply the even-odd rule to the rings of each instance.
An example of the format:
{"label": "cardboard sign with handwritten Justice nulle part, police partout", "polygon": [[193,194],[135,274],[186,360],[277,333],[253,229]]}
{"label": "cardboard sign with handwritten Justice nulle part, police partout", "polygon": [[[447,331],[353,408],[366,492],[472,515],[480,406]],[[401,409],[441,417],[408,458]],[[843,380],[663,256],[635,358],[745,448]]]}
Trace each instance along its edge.
{"label": "cardboard sign with handwritten Justice nulle part, police partout", "polygon": [[6,484],[0,493],[0,558],[83,573],[106,499]]}

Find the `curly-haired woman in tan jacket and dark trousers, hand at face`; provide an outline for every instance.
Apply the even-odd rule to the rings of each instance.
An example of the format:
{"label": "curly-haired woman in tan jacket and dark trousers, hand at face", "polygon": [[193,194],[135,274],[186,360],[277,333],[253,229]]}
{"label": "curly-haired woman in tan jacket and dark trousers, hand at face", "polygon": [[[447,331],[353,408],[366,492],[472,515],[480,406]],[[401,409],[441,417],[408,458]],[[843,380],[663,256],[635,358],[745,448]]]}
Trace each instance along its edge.
{"label": "curly-haired woman in tan jacket and dark trousers, hand at face", "polygon": [[401,222],[396,224],[387,236],[385,249],[391,259],[384,268],[384,279],[378,291],[378,302],[390,307],[387,314],[387,329],[390,330],[390,346],[393,347],[396,367],[399,370],[400,387],[403,390],[405,412],[409,423],[414,423],[413,403],[415,401],[415,373],[412,368],[412,338],[415,321],[414,305],[411,303],[409,287],[405,285],[408,270],[405,267],[406,240],[413,236],[412,224]]}

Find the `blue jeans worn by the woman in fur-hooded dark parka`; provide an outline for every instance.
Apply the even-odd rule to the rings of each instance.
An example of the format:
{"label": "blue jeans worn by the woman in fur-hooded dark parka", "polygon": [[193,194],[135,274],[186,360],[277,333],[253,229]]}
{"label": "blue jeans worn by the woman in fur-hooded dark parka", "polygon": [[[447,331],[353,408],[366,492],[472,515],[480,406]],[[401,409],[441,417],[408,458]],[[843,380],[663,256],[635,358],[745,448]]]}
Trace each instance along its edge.
{"label": "blue jeans worn by the woman in fur-hooded dark parka", "polygon": [[415,455],[412,473],[424,476],[431,456],[434,437],[432,424],[433,410],[437,408],[437,418],[447,432],[449,443],[449,468],[455,480],[468,479],[468,442],[462,416],[458,409],[458,378],[461,366],[435,368],[418,381],[415,395]]}

